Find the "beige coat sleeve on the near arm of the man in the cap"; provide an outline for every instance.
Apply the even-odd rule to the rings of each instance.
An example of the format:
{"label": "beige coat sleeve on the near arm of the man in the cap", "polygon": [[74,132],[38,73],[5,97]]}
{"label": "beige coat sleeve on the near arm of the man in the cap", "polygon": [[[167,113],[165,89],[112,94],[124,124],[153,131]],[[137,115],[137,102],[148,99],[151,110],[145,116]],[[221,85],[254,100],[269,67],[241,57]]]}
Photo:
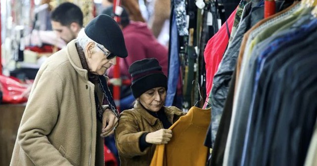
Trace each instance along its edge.
{"label": "beige coat sleeve on the near arm of the man in the cap", "polygon": [[17,142],[36,166],[71,166],[47,137],[58,121],[62,81],[56,73],[50,71],[37,77],[39,79],[33,84],[21,120]]}

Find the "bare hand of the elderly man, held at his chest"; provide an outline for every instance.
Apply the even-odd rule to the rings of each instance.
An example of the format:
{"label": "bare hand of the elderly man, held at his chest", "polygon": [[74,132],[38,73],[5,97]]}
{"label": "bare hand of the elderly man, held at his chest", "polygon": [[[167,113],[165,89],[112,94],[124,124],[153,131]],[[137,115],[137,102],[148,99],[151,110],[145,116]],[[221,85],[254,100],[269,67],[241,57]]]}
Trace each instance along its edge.
{"label": "bare hand of the elderly man, held at his chest", "polygon": [[100,134],[102,137],[109,136],[114,133],[114,127],[118,125],[118,118],[107,108],[103,115],[103,129]]}

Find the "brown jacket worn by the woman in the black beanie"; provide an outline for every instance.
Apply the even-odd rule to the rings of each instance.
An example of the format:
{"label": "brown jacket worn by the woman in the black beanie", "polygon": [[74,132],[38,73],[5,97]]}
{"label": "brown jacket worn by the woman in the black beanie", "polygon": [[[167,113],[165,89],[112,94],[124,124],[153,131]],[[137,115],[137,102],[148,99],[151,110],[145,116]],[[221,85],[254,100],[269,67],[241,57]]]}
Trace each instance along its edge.
{"label": "brown jacket worn by the woman in the black beanie", "polygon": [[[164,107],[164,112],[171,124],[186,114],[173,106]],[[139,139],[143,133],[157,131],[161,128],[163,128],[163,124],[159,119],[153,117],[140,104],[136,104],[134,109],[123,111],[115,131],[121,166],[149,166],[156,145],[141,152]]]}

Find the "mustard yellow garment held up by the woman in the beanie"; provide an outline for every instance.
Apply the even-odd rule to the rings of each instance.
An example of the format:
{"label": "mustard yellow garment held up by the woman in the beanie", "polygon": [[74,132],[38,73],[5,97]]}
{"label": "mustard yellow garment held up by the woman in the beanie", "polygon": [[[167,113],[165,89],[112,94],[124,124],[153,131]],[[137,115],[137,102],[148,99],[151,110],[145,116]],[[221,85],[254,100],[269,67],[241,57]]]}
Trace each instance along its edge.
{"label": "mustard yellow garment held up by the woman in the beanie", "polygon": [[168,144],[157,145],[151,166],[206,166],[208,148],[204,146],[211,121],[211,109],[192,107],[169,129]]}

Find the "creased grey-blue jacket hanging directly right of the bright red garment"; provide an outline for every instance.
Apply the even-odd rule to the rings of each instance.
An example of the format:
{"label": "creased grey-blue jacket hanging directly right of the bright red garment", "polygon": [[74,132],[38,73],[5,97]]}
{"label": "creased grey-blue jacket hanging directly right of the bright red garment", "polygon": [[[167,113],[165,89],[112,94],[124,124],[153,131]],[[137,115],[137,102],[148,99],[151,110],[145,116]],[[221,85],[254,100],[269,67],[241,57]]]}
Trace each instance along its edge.
{"label": "creased grey-blue jacket hanging directly right of the bright red garment", "polygon": [[[218,126],[220,123],[220,119],[222,116],[222,110],[224,107],[224,103],[228,94],[229,83],[232,78],[232,74],[234,68],[236,67],[237,57],[239,54],[239,49],[241,46],[241,42],[243,39],[243,35],[249,30],[253,25],[259,22],[264,18],[264,7],[252,7],[252,5],[256,5],[258,0],[254,0],[249,3],[249,11],[246,12],[240,22],[237,32],[232,40],[232,42],[228,45],[227,50],[225,51],[222,60],[219,64],[218,70],[214,75],[211,93],[209,97],[209,103],[211,103],[212,108],[212,124],[211,124],[211,139],[212,143],[215,140],[215,135],[218,130]],[[252,3],[252,4],[251,4]],[[252,12],[251,12],[252,10]]]}

